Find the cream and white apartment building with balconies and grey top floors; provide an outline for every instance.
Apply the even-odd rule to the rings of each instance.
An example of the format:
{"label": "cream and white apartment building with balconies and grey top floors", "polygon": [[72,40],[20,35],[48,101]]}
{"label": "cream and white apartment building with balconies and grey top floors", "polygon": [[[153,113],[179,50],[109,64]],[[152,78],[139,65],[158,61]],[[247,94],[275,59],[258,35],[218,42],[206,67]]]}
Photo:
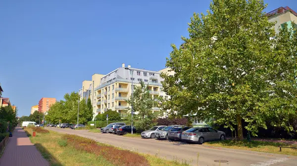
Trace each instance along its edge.
{"label": "cream and white apartment building with balconies and grey top floors", "polygon": [[[125,67],[125,64],[122,64],[122,67],[103,76],[99,86],[95,88],[97,98],[95,115],[102,114],[107,109],[116,111],[121,115],[127,114],[131,106],[126,100],[130,98],[133,88],[140,85],[141,81],[148,84],[152,98],[161,96],[168,99],[169,96],[162,91],[161,82],[163,79],[160,74],[156,71],[136,69],[131,66]],[[157,107],[152,108],[153,112],[159,110]],[[168,112],[165,111],[164,116]]]}

